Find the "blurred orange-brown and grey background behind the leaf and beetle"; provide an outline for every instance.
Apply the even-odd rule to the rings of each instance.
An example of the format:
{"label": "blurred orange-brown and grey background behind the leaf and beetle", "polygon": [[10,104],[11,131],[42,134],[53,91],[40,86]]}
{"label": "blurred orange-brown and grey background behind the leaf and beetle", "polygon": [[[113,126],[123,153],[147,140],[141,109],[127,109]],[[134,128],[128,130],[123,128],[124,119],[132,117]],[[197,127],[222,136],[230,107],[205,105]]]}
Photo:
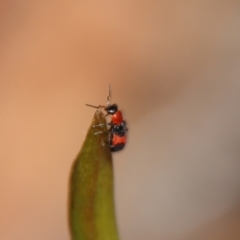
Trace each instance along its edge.
{"label": "blurred orange-brown and grey background behind the leaf and beetle", "polygon": [[122,240],[240,239],[239,1],[1,1],[0,239],[68,240],[69,172],[107,84]]}

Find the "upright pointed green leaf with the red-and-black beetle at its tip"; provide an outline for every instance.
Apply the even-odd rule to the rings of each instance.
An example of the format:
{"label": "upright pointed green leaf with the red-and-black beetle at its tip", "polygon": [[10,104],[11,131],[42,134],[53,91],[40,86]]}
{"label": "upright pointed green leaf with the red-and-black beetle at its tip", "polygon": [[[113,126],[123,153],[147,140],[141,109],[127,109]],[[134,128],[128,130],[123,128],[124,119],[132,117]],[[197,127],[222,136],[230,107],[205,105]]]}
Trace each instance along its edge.
{"label": "upright pointed green leaf with the red-and-black beetle at its tip", "polygon": [[72,167],[69,220],[72,240],[119,239],[114,211],[112,154],[106,119],[99,110]]}

